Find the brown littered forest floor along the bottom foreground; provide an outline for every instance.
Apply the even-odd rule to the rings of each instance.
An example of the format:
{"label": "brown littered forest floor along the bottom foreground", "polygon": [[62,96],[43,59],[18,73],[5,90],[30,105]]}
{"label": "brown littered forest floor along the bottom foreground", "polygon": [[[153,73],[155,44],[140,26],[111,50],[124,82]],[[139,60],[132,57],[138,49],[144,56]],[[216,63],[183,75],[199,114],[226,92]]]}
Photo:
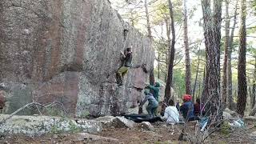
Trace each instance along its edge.
{"label": "brown littered forest floor along the bottom foreground", "polygon": [[[79,134],[51,134],[38,138],[23,136],[1,137],[0,143],[190,143],[178,142],[179,134],[182,130],[181,125],[174,126],[174,134],[170,126],[164,122],[152,124],[154,130],[142,130],[138,128],[108,128],[101,133],[85,137]],[[246,127],[235,128],[230,134],[215,132],[207,138],[205,143],[256,143],[255,122],[246,122]]]}

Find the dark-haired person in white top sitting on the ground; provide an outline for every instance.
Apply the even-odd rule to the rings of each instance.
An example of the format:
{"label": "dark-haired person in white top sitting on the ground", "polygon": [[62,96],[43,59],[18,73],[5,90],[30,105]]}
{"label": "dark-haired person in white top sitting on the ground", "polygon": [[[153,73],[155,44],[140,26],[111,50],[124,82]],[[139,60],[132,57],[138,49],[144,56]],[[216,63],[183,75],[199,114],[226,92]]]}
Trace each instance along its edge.
{"label": "dark-haired person in white top sitting on the ground", "polygon": [[178,117],[179,113],[176,106],[174,106],[174,101],[170,100],[169,106],[166,107],[165,114],[162,119],[166,120],[167,124],[175,124],[179,122]]}

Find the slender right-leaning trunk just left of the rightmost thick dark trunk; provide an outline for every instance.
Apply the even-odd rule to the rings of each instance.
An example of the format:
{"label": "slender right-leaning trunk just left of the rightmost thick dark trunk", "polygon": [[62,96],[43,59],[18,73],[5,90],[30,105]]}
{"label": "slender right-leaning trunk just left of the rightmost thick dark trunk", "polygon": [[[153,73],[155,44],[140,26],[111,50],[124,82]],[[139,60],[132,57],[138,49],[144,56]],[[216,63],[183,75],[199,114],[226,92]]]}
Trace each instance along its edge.
{"label": "slender right-leaning trunk just left of the rightmost thick dark trunk", "polygon": [[230,47],[228,50],[228,58],[227,58],[227,69],[226,69],[226,74],[227,74],[227,78],[226,78],[226,87],[227,87],[227,99],[226,99],[226,103],[227,106],[230,110],[234,110],[234,97],[233,97],[233,90],[232,90],[232,66],[231,66],[231,54],[232,54],[232,50],[234,49],[234,29],[235,26],[237,24],[237,14],[238,14],[238,0],[236,2],[235,5],[235,10],[234,10],[234,23],[231,29],[231,33],[230,33]]}

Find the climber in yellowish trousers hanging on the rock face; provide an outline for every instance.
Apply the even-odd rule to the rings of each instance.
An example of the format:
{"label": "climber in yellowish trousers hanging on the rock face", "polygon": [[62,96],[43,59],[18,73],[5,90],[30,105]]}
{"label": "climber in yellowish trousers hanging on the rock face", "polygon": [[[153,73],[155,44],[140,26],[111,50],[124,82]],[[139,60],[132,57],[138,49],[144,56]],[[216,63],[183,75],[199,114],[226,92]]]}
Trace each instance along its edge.
{"label": "climber in yellowish trousers hanging on the rock face", "polygon": [[123,77],[125,74],[127,74],[130,66],[131,66],[131,62],[132,62],[132,50],[131,47],[126,48],[125,52],[123,53],[121,51],[121,59],[122,59],[122,66],[118,69],[117,72],[117,80],[119,80],[118,85],[122,86],[122,81],[123,81]]}

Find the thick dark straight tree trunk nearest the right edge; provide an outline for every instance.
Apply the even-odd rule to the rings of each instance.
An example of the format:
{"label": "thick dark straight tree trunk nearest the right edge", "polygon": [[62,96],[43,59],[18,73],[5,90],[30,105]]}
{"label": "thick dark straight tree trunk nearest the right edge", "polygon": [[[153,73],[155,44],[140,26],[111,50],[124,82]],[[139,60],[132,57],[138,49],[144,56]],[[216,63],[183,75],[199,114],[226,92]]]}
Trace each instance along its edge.
{"label": "thick dark straight tree trunk nearest the right edge", "polygon": [[239,30],[238,56],[238,114],[244,115],[246,109],[246,0],[241,1],[241,26]]}

